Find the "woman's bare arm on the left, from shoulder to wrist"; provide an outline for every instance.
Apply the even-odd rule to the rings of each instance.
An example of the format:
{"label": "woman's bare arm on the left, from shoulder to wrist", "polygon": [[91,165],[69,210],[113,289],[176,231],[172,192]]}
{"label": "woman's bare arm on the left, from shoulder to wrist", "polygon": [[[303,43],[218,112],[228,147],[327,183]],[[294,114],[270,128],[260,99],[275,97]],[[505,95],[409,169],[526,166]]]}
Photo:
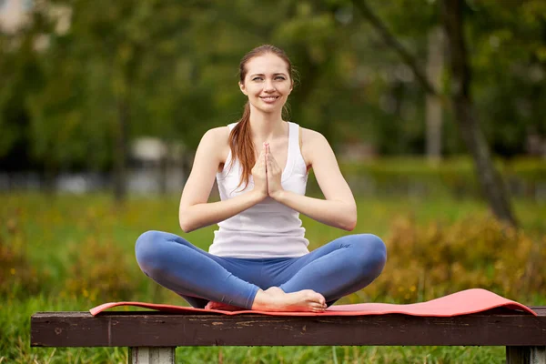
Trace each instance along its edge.
{"label": "woman's bare arm on the left, from shoulder to wrist", "polygon": [[208,130],[199,142],[178,210],[180,227],[186,233],[233,217],[267,197],[267,191],[255,189],[225,201],[207,203],[217,168],[223,162],[222,154],[227,150],[222,146],[227,146],[228,134],[227,127],[217,127]]}

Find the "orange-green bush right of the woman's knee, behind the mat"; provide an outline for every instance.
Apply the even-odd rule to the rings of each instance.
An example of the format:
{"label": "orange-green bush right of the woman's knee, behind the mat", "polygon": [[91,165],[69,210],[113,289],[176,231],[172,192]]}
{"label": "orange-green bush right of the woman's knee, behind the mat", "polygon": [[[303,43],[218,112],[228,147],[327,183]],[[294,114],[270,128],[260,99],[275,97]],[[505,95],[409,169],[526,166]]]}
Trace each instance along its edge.
{"label": "orange-green bush right of the woman's knee, behind the mat", "polygon": [[546,238],[533,239],[492,217],[422,227],[398,218],[385,243],[387,266],[365,289],[371,297],[409,303],[485,288],[529,303],[546,285]]}

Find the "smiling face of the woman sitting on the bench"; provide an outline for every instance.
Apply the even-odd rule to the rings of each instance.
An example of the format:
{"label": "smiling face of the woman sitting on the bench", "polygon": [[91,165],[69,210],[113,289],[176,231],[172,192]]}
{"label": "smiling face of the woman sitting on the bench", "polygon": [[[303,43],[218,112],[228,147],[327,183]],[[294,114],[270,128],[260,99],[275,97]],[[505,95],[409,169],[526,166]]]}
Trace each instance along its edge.
{"label": "smiling face of the woman sitting on the bench", "polygon": [[250,59],[246,70],[247,75],[239,87],[248,96],[250,105],[266,113],[282,110],[292,91],[287,63],[268,53]]}

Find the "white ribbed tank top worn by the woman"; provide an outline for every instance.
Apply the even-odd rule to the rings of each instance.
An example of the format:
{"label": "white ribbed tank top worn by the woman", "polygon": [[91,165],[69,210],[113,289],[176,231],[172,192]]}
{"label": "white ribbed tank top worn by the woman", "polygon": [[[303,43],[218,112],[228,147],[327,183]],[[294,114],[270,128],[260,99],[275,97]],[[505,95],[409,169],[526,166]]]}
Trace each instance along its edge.
{"label": "white ribbed tank top worn by the woman", "polygon": [[[237,123],[230,124],[232,130]],[[231,150],[224,169],[217,173],[220,198],[226,200],[254,188],[250,176],[248,187],[238,187],[242,167],[238,160],[233,166]],[[288,122],[287,166],[282,172],[281,185],[285,190],[305,195],[308,180],[307,166],[299,150],[299,126]],[[298,211],[282,205],[271,197],[218,223],[214,240],[208,251],[219,257],[232,258],[293,258],[307,254],[308,239],[301,226]]]}

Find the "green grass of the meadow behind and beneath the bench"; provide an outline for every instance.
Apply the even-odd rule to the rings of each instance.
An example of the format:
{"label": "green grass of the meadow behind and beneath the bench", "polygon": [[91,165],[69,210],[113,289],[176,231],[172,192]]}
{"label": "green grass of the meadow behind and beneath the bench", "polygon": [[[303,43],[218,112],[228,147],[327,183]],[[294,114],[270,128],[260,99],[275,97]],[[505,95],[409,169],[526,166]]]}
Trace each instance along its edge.
{"label": "green grass of the meadow behind and beneath the bench", "polygon": [[[515,201],[522,229],[534,238],[546,235],[546,204]],[[0,363],[125,363],[126,349],[40,349],[29,347],[30,316],[36,311],[86,310],[111,300],[185,304],[158,288],[136,266],[134,242],[148,229],[179,233],[178,197],[132,197],[117,206],[106,195],[0,195]],[[471,199],[450,197],[359,197],[359,224],[354,233],[389,237],[392,222],[410,217],[419,226],[488,215]],[[302,217],[310,248],[345,234]],[[185,235],[207,248],[213,230]],[[7,248],[7,249],[6,249]],[[4,259],[4,260],[2,260]],[[4,274],[4,276],[3,276]],[[384,277],[388,280],[388,277]],[[106,282],[106,285],[104,284]],[[366,293],[366,289],[364,289]],[[365,294],[343,298],[349,303]],[[522,297],[523,298],[523,297]],[[390,296],[371,297],[397,302]],[[525,299],[531,299],[525,297]],[[544,301],[537,293],[533,302]],[[503,348],[473,347],[284,347],[178,348],[177,362],[222,363],[495,363]]]}

